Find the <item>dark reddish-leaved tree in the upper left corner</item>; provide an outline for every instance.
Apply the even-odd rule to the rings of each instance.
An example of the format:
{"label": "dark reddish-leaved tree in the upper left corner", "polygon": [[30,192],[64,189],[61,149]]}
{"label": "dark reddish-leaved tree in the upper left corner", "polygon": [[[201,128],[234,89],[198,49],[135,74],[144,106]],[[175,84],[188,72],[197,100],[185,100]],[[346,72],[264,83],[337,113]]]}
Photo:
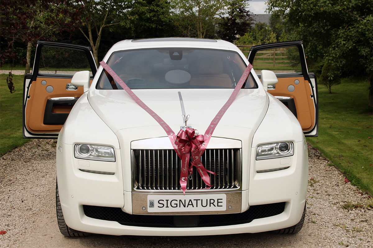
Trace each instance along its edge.
{"label": "dark reddish-leaved tree in the upper left corner", "polygon": [[25,43],[25,73],[30,72],[31,48],[36,40],[54,40],[81,23],[81,9],[68,0],[2,0],[1,5],[0,33],[8,41],[8,48],[1,50],[1,63],[6,58],[15,59],[15,42]]}

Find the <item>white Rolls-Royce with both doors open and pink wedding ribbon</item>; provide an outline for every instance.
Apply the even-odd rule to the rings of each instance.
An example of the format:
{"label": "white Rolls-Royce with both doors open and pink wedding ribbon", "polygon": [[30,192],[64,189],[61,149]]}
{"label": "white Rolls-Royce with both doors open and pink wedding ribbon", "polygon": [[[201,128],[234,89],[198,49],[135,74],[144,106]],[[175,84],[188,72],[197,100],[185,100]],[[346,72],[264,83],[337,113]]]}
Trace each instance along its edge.
{"label": "white Rolls-Royce with both doors open and pink wedding ribbon", "polygon": [[125,40],[99,67],[89,47],[39,41],[23,91],[24,138],[58,136],[65,236],[303,226],[318,108],[301,41],[246,58],[222,40]]}

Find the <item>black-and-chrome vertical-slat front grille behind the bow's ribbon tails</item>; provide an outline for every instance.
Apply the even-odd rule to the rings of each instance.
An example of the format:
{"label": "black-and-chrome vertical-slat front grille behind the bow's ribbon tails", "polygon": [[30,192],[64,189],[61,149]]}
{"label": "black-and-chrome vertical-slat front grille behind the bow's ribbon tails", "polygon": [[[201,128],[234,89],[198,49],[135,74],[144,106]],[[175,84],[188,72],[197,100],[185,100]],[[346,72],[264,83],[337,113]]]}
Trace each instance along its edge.
{"label": "black-and-chrome vertical-slat front grille behind the bow's ribbon tails", "polygon": [[[210,175],[210,189],[238,189],[241,178],[241,149],[207,149],[201,156]],[[180,190],[181,159],[174,150],[132,150],[136,190]],[[206,184],[194,168],[186,189],[204,189]]]}

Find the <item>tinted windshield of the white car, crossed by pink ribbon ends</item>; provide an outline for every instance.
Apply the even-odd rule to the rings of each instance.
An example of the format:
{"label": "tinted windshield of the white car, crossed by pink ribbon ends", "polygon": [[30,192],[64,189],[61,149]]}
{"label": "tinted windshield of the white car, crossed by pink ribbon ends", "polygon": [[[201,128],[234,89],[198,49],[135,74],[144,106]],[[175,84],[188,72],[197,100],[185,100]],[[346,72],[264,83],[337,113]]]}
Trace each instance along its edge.
{"label": "tinted windshield of the white car, crossed by pink ribbon ends", "polygon": [[[246,68],[236,52],[201,48],[118,51],[107,64],[130,89],[234,88]],[[122,89],[104,72],[96,88]],[[257,88],[251,74],[243,88]]]}

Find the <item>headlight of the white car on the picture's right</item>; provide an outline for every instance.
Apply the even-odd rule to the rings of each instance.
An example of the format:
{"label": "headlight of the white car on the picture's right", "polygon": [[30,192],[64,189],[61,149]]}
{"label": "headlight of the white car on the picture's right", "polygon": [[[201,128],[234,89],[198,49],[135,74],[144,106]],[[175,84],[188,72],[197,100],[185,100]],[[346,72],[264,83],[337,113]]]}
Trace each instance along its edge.
{"label": "headlight of the white car on the picture's right", "polygon": [[294,154],[293,142],[278,142],[259,145],[256,160],[288,157]]}

